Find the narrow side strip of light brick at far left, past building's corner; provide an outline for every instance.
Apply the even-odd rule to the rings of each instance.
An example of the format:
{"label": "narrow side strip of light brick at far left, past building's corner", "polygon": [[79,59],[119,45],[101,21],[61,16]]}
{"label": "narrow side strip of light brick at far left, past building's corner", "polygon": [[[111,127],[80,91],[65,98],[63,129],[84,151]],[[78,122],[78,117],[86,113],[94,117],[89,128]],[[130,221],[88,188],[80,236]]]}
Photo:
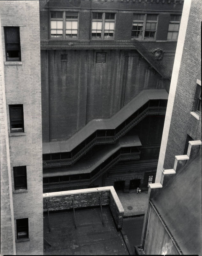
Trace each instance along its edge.
{"label": "narrow side strip of light brick at far left, past building's corner", "polygon": [[[0,16],[1,18],[1,16]],[[1,34],[0,19],[0,34]],[[1,254],[16,254],[9,139],[6,115],[4,62],[0,37],[0,148],[1,148]]]}

